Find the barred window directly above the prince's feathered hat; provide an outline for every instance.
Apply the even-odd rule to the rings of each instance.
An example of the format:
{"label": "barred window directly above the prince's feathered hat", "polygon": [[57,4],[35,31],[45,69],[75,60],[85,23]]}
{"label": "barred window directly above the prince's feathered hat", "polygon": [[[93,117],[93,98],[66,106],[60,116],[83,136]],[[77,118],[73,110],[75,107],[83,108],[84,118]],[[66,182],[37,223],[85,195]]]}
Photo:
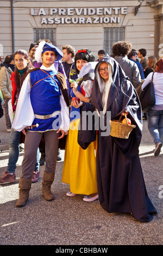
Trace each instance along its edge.
{"label": "barred window directly above the prince's feathered hat", "polygon": [[55,45],[55,28],[34,28],[34,42],[49,39]]}

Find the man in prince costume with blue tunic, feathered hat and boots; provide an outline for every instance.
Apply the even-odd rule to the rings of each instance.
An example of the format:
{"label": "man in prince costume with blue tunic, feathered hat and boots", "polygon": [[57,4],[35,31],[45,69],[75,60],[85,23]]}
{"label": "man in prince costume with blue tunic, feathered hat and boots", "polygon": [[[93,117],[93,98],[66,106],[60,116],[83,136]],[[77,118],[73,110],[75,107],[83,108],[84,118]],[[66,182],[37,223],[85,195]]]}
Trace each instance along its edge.
{"label": "man in prince costume with blue tunic, feathered hat and boots", "polygon": [[42,134],[46,150],[42,193],[46,200],[54,199],[51,185],[57,163],[58,142],[70,126],[66,79],[54,68],[55,60],[61,58],[62,52],[57,47],[41,41],[35,51],[35,59],[42,62],[42,66],[30,70],[22,85],[12,123],[16,131],[26,135],[17,207],[24,206],[29,198],[36,152]]}

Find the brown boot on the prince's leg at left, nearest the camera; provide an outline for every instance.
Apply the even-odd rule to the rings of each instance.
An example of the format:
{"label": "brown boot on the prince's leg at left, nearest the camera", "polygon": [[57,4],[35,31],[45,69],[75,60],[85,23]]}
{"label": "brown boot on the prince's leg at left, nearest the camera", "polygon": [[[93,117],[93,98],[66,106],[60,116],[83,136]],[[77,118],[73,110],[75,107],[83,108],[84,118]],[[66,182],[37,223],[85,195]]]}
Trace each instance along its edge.
{"label": "brown boot on the prince's leg at left, nearest the camera", "polygon": [[20,178],[18,187],[20,188],[19,191],[19,198],[16,202],[17,207],[22,207],[26,205],[26,202],[29,198],[29,190],[31,188],[32,179],[22,179]]}

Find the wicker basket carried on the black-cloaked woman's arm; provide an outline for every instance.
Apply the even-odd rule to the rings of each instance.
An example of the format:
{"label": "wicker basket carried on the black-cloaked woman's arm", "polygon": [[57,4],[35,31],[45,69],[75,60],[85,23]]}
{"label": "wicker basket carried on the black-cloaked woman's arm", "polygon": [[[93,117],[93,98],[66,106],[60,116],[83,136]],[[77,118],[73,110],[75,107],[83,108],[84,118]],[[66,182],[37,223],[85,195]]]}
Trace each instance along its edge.
{"label": "wicker basket carried on the black-cloaked woman's arm", "polygon": [[126,118],[126,124],[122,124],[121,118],[123,115],[120,116],[119,120],[110,120],[111,124],[111,132],[110,135],[112,137],[128,139],[130,132],[136,127],[135,125],[129,125],[127,123],[127,116],[124,114]]}

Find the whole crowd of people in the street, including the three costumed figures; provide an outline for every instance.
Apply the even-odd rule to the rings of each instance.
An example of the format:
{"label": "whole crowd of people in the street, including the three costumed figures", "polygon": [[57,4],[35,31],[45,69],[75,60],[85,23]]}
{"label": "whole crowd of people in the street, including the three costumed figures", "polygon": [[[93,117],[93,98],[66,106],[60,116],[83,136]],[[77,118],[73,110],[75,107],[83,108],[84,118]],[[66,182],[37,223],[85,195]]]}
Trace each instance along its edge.
{"label": "whole crowd of people in the street, including the three costumed figures", "polygon": [[[146,59],[146,54],[143,48],[136,53],[124,40],[112,45],[111,56],[99,50],[95,60],[87,48],[75,53],[73,46],[63,45],[60,51],[46,39],[33,42],[29,52],[18,50],[2,58],[0,88],[10,143],[8,168],[0,183],[16,181],[16,162],[24,143],[17,207],[26,205],[43,164],[42,193],[47,201],[54,199],[51,186],[61,160],[59,149],[64,148],[62,182],[70,185],[66,196],[82,194],[86,202],[99,199],[107,212],[127,212],[142,222],[152,220],[156,209],[148,197],[139,159],[143,123],[136,88],[142,84],[143,90],[154,72],[156,103],[147,112],[147,121],[154,156],[158,156],[163,141],[163,60]],[[2,117],[2,106],[0,110]],[[102,118],[105,125],[107,112],[111,119],[127,115],[135,129],[128,139],[103,135],[95,119],[88,129],[89,120],[83,118],[87,112],[97,113],[99,124]],[[86,129],[82,129],[85,121]]]}

